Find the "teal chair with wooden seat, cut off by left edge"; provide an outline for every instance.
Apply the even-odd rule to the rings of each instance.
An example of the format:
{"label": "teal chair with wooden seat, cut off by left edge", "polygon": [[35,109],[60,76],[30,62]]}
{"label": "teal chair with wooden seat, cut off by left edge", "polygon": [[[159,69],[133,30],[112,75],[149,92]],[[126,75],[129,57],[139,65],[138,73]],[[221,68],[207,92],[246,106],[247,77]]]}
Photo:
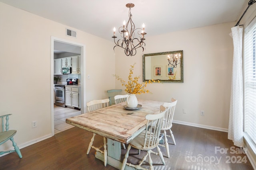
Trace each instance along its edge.
{"label": "teal chair with wooden seat, cut off by left edge", "polygon": [[[16,130],[9,130],[9,115],[2,115],[0,116],[0,122],[2,123],[2,129],[0,129],[0,145],[5,143],[8,140],[12,141],[12,146],[14,146],[14,150],[8,150],[8,151],[1,151],[0,154],[4,153],[12,153],[14,151],[17,152],[18,156],[22,158],[21,152],[17,144],[14,142],[14,135],[16,134]],[[5,119],[4,119],[5,118]]]}

